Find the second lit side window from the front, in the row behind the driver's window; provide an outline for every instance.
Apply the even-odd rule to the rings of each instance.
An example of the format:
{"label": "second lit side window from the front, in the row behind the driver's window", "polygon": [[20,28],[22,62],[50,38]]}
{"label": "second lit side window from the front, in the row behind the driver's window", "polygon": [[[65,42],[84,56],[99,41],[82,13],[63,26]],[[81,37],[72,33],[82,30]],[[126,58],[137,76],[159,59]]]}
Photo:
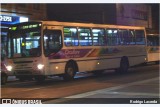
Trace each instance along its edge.
{"label": "second lit side window from the front, in the row behind the driver's window", "polygon": [[79,43],[81,46],[91,46],[92,36],[89,28],[79,28]]}

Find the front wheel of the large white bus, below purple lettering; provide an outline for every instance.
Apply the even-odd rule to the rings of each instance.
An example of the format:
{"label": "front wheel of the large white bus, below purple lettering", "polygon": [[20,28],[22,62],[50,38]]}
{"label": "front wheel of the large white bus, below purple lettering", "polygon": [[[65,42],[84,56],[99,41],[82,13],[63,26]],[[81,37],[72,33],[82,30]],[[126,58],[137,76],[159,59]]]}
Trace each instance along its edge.
{"label": "front wheel of the large white bus, below purple lettering", "polygon": [[64,80],[73,80],[76,74],[76,64],[74,62],[68,62],[65,67],[65,73],[63,75]]}

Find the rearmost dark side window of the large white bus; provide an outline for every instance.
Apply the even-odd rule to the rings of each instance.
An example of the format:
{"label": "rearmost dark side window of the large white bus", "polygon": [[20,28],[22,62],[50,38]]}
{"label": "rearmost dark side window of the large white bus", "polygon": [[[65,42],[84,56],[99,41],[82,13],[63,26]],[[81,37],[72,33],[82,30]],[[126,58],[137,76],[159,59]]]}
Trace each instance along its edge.
{"label": "rearmost dark side window of the large white bus", "polygon": [[145,44],[144,31],[143,30],[136,30],[135,34],[136,34],[136,44],[138,44],[138,45]]}

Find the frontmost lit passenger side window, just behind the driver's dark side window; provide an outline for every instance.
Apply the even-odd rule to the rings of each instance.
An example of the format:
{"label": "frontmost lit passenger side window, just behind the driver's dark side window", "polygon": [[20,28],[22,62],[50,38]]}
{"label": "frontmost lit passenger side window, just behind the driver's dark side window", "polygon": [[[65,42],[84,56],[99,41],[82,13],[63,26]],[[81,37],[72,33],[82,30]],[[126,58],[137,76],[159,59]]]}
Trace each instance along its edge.
{"label": "frontmost lit passenger side window, just behind the driver's dark side window", "polygon": [[65,27],[64,32],[64,44],[65,46],[78,46],[78,34],[76,28]]}

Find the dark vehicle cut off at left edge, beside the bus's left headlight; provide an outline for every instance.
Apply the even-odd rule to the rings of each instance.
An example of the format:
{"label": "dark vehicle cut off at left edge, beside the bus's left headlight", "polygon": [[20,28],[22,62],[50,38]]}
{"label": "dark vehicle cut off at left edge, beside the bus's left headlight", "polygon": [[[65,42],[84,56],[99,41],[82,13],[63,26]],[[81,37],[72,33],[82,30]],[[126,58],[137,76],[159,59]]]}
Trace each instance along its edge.
{"label": "dark vehicle cut off at left edge, beside the bus's left headlight", "polygon": [[8,75],[7,75],[6,66],[5,66],[5,64],[3,62],[1,62],[0,73],[1,73],[1,84],[4,85],[7,82]]}

